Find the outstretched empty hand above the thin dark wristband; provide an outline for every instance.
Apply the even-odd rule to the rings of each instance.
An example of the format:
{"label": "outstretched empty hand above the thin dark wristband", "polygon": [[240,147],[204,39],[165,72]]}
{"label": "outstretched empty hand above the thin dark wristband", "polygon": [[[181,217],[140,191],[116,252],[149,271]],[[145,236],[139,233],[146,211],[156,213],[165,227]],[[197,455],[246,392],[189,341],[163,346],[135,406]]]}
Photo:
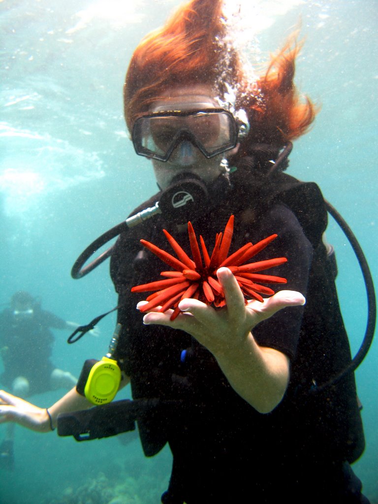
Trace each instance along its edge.
{"label": "outstretched empty hand above the thin dark wristband", "polygon": [[19,397],[0,390],[0,423],[14,422],[37,432],[49,432],[46,409],[38,408]]}

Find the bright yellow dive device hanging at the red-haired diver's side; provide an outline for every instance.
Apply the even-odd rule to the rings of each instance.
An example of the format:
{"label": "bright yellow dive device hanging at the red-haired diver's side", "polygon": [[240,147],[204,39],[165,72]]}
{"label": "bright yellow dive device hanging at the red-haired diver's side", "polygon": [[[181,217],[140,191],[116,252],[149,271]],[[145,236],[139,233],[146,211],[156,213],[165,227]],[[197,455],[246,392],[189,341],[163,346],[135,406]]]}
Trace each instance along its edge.
{"label": "bright yellow dive device hanging at the red-haired diver's side", "polygon": [[121,325],[117,324],[109,351],[101,360],[88,359],[84,363],[76,390],[92,404],[110,403],[118,391],[121,370],[112,356],[117,347],[120,330]]}

